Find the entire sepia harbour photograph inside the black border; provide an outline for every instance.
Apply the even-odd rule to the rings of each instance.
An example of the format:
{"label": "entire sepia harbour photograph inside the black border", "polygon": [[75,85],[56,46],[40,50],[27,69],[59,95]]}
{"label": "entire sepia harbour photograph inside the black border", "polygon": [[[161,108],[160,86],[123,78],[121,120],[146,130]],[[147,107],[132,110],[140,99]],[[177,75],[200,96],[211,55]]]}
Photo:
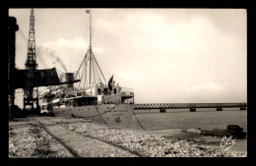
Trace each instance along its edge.
{"label": "entire sepia harbour photograph inside the black border", "polygon": [[9,158],[247,157],[247,10],[9,8]]}

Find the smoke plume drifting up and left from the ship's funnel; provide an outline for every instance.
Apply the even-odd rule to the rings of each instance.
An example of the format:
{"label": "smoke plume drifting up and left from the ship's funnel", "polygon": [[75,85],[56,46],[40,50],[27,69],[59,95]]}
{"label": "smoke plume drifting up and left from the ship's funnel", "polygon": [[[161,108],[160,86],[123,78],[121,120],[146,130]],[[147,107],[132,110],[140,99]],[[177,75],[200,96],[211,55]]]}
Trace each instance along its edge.
{"label": "smoke plume drifting up and left from the ship's funnel", "polygon": [[63,63],[63,61],[59,58],[59,56],[55,55],[55,51],[54,50],[50,50],[49,48],[42,48],[41,46],[39,46],[38,48],[36,48],[37,52],[39,53],[39,55],[46,55],[49,56],[51,58],[55,59],[55,63],[59,63],[61,68],[64,70],[65,73],[67,73],[67,68],[66,65]]}

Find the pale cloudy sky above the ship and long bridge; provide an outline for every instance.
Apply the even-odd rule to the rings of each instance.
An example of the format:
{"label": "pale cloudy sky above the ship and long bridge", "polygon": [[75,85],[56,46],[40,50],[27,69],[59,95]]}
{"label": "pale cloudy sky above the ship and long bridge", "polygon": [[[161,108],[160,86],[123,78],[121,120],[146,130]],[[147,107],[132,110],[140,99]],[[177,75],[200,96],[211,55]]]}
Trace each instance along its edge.
{"label": "pale cloudy sky above the ship and long bridge", "polygon": [[[36,52],[48,68],[76,72],[89,46],[87,9],[34,9]],[[108,81],[135,103],[247,102],[244,9],[91,9],[93,51]],[[31,9],[10,9],[16,65],[25,69]],[[60,61],[57,62],[57,59]],[[56,62],[54,64],[54,62]],[[45,69],[37,60],[38,69]],[[23,103],[17,90],[16,104]]]}

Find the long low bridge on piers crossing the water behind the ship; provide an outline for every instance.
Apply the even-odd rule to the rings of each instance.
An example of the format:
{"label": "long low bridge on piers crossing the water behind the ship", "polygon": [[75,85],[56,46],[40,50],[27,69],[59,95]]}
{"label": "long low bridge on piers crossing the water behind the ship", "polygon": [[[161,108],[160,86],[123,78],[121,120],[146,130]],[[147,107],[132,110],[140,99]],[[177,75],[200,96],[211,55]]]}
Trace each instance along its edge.
{"label": "long low bridge on piers crossing the water behind the ship", "polygon": [[149,103],[149,104],[134,104],[134,109],[160,109],[165,112],[165,109],[184,109],[188,108],[191,112],[195,112],[196,108],[217,108],[217,111],[223,111],[223,108],[240,108],[246,110],[247,103]]}

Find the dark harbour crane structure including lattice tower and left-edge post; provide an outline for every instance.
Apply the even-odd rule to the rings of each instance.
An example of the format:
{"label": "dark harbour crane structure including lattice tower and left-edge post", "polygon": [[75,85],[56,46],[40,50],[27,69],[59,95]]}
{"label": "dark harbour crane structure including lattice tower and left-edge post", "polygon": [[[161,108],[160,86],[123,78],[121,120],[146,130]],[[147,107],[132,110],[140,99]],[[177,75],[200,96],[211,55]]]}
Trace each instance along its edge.
{"label": "dark harbour crane structure including lattice tower and left-edge post", "polygon": [[[13,120],[15,112],[15,89],[23,88],[25,91],[23,112],[38,113],[38,86],[59,85],[65,83],[77,83],[79,80],[60,82],[55,68],[37,70],[35,56],[35,39],[34,39],[34,17],[31,11],[31,24],[29,41],[23,38],[28,44],[28,59],[26,69],[16,68],[16,31],[19,31],[17,20],[14,17],[8,17],[8,114],[9,120]],[[20,32],[20,31],[19,31]],[[21,34],[22,35],[22,34]],[[35,90],[34,90],[35,88]],[[34,105],[35,104],[35,105]],[[29,108],[27,107],[29,106]],[[34,107],[33,107],[34,106]]]}

